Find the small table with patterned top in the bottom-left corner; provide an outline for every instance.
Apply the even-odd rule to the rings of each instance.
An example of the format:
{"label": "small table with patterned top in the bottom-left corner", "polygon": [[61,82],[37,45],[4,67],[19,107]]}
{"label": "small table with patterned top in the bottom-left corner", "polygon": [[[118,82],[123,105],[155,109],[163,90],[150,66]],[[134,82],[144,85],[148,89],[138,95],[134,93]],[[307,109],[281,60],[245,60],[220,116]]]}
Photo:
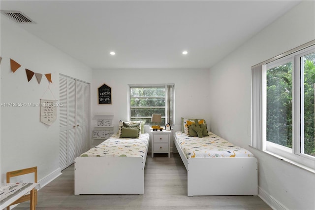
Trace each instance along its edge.
{"label": "small table with patterned top in the bottom-left corner", "polygon": [[38,183],[3,183],[0,187],[0,210],[31,192],[30,209],[35,210],[34,189]]}

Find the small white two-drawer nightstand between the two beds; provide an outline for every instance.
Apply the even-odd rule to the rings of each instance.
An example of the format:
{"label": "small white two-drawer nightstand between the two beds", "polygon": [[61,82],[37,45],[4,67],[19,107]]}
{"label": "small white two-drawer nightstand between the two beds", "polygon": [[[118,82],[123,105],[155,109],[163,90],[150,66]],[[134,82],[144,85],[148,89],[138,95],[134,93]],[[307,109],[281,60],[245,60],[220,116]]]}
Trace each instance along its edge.
{"label": "small white two-drawer nightstand between the two beds", "polygon": [[171,157],[171,134],[172,131],[153,131],[152,134],[152,157],[154,153],[168,153]]}

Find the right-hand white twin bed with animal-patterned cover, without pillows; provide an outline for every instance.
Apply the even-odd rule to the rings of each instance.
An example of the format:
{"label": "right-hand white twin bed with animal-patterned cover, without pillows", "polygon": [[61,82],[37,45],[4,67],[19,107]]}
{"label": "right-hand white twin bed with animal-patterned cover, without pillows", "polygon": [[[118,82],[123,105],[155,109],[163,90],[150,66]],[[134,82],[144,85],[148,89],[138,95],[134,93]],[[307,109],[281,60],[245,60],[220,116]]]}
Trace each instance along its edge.
{"label": "right-hand white twin bed with animal-patterned cover, without pillows", "polygon": [[187,169],[188,196],[257,195],[257,159],[248,150],[208,134],[198,138],[174,132],[174,144]]}

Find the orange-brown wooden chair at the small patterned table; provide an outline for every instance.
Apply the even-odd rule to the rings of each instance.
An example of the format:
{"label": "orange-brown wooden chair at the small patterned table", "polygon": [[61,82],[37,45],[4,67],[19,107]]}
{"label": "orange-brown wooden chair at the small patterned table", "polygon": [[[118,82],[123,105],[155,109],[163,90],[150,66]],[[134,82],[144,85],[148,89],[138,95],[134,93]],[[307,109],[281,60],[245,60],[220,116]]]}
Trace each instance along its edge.
{"label": "orange-brown wooden chair at the small patterned table", "polygon": [[[14,176],[19,176],[19,175],[26,175],[26,174],[31,174],[34,173],[34,182],[37,183],[37,166],[32,167],[32,168],[27,168],[27,169],[21,169],[21,170],[16,170],[12,172],[7,172],[6,173],[6,183],[10,183],[10,178]],[[31,201],[31,196],[34,195],[33,197],[33,203],[31,202],[30,208],[35,209],[35,206],[37,205],[37,190],[33,189],[33,193],[31,192],[30,194],[26,194],[19,198],[18,200],[14,201],[12,204],[10,204],[6,210],[10,210],[10,206],[14,204],[19,204],[25,201]]]}

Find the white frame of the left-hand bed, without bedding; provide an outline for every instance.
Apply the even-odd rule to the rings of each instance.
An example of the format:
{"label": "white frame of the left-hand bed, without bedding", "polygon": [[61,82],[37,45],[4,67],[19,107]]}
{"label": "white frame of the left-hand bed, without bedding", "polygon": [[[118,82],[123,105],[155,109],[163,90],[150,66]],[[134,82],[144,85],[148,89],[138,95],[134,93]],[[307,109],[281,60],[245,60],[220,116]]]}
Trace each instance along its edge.
{"label": "white frame of the left-hand bed, without bedding", "polygon": [[[150,133],[149,131],[150,126],[145,126],[145,132]],[[144,158],[141,157],[75,158],[74,194],[143,195],[144,167],[148,154],[149,142]]]}

